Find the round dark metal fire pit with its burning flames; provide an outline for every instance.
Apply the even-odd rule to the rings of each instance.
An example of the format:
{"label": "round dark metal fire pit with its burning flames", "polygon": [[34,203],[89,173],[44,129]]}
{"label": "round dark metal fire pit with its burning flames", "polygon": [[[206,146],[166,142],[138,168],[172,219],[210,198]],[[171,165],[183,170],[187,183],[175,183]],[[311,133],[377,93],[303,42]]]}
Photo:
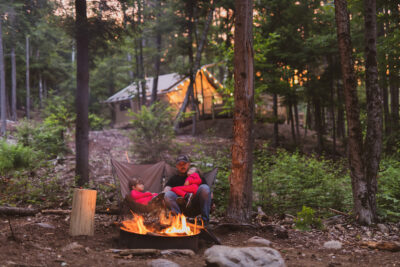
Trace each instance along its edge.
{"label": "round dark metal fire pit with its burning flames", "polygon": [[120,245],[127,248],[191,249],[198,250],[202,226],[186,222],[184,215],[160,215],[163,227],[145,226],[143,217],[133,214],[133,219],[123,221],[120,227]]}

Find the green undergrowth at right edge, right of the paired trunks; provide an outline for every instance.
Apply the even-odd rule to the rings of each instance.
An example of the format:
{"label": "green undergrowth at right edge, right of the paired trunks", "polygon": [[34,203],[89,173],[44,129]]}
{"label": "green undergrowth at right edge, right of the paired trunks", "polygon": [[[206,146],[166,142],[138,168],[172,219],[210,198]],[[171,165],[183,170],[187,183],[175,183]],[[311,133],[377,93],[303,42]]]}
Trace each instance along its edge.
{"label": "green undergrowth at right edge, right of the paired trunks", "polygon": [[376,195],[378,214],[385,220],[400,218],[400,162],[388,158],[381,161]]}

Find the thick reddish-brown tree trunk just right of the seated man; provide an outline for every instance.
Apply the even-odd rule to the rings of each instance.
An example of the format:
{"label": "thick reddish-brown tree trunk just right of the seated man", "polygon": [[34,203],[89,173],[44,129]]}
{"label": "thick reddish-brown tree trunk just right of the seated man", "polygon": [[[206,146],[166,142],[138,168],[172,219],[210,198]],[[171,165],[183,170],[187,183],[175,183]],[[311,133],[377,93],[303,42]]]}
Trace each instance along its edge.
{"label": "thick reddish-brown tree trunk just right of the seated man", "polygon": [[253,2],[236,0],[235,8],[235,107],[227,217],[235,222],[249,222],[252,205],[254,143]]}

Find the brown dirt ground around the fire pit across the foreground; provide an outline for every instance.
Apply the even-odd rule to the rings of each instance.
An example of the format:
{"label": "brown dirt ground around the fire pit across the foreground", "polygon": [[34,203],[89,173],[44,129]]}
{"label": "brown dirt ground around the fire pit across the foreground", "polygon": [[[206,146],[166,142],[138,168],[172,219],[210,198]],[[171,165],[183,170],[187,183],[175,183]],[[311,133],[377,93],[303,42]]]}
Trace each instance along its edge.
{"label": "brown dirt ground around the fire pit across the foreground", "polygon": [[[0,266],[146,266],[157,257],[119,256],[110,252],[120,248],[116,217],[96,215],[92,237],[71,237],[69,215],[35,217],[1,217]],[[12,225],[13,235],[11,234]],[[287,266],[400,266],[400,252],[372,250],[357,245],[343,233],[340,250],[323,248],[332,239],[330,231],[300,232],[288,229],[287,238],[280,238],[269,227],[230,229],[214,226],[223,245],[247,246],[246,241],[259,236],[272,241]],[[349,230],[351,234],[351,230]],[[15,238],[14,238],[15,237]],[[163,256],[181,266],[205,266],[204,250],[211,243],[200,242],[195,256]],[[190,264],[188,264],[190,262]]]}

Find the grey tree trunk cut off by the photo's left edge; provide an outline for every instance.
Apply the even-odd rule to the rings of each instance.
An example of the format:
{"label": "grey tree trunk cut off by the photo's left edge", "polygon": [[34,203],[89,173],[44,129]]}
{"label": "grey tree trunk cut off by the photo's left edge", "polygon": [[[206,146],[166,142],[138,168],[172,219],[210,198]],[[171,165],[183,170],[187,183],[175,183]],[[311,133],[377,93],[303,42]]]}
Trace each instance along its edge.
{"label": "grey tree trunk cut off by the photo's left edge", "polygon": [[6,74],[4,66],[3,49],[3,18],[0,17],[0,103],[1,103],[1,135],[4,136],[7,130],[7,109],[6,109]]}

